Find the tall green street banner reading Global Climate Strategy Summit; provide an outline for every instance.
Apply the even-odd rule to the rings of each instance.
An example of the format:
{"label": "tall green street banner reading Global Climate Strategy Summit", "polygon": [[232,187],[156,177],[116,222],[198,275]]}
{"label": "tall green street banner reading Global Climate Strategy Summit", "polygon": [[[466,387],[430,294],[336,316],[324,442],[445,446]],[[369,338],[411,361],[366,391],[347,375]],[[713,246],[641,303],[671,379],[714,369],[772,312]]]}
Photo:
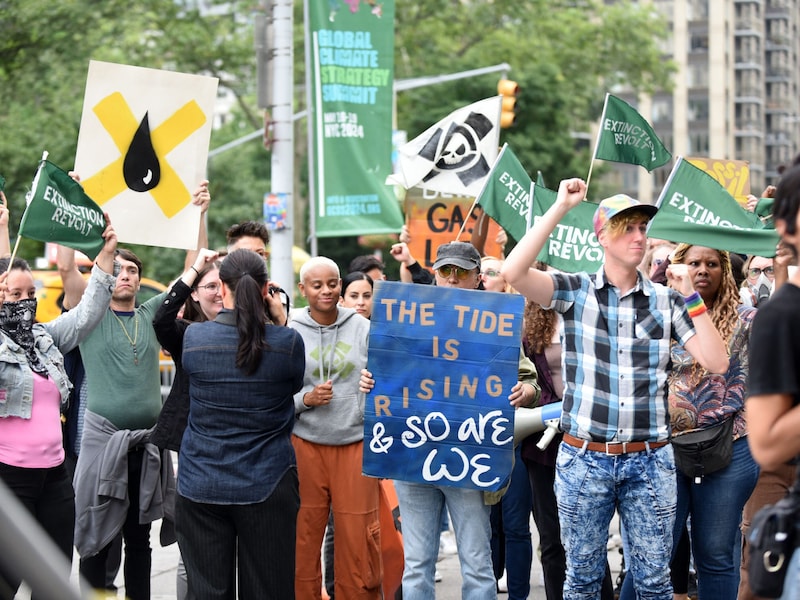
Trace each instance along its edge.
{"label": "tall green street banner reading Global Climate Strategy Summit", "polygon": [[306,0],[306,85],[318,237],[397,233],[394,0]]}

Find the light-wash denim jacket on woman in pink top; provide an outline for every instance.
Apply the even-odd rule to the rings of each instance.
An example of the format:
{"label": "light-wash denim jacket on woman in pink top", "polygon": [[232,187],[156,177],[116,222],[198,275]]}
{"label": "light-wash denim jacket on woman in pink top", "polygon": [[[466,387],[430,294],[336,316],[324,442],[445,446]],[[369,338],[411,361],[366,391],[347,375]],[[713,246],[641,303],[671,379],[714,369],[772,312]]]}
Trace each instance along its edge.
{"label": "light-wash denim jacket on woman in pink top", "polygon": [[[61,394],[61,404],[69,401],[72,384],[64,370],[64,354],[75,348],[100,322],[116,278],[95,265],[86,291],[78,305],[49,323],[35,323],[33,335],[36,353],[47,368],[48,377]],[[33,406],[33,370],[25,351],[0,331],[0,418],[31,418]]]}

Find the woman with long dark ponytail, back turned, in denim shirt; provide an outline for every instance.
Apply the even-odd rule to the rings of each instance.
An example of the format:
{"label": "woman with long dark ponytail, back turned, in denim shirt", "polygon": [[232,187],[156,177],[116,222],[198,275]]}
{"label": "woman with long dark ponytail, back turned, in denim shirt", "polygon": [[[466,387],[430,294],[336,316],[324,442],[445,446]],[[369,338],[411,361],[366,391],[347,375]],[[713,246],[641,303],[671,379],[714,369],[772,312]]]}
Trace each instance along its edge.
{"label": "woman with long dark ponytail, back turned, in denim shirt", "polygon": [[183,344],[190,409],[176,527],[189,593],[294,598],[300,499],[290,436],[305,348],[297,332],[269,320],[263,258],[231,252],[219,278],[222,310],[190,325]]}

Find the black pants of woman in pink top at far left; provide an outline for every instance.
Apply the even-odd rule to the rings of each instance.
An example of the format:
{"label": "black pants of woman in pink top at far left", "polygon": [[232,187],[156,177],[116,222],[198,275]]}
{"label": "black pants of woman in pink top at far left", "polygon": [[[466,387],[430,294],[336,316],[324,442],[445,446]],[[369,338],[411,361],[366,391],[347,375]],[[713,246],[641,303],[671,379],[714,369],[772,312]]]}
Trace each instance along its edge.
{"label": "black pants of woman in pink top at far left", "polygon": [[[0,478],[72,562],[75,492],[64,464],[50,469],[26,469],[0,463]],[[20,578],[0,559],[0,599],[13,598],[20,583]]]}

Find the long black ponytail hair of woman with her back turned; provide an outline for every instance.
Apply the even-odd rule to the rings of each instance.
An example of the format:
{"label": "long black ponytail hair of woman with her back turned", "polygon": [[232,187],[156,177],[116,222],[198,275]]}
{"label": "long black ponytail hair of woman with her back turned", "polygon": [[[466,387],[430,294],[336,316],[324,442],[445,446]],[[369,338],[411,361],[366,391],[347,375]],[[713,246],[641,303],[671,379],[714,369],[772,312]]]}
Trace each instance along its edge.
{"label": "long black ponytail hair of woman with her back turned", "polygon": [[219,278],[233,292],[239,332],[236,366],[252,375],[261,363],[263,350],[268,348],[264,339],[268,316],[262,294],[267,283],[267,265],[251,250],[234,250],[222,261]]}

